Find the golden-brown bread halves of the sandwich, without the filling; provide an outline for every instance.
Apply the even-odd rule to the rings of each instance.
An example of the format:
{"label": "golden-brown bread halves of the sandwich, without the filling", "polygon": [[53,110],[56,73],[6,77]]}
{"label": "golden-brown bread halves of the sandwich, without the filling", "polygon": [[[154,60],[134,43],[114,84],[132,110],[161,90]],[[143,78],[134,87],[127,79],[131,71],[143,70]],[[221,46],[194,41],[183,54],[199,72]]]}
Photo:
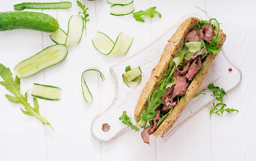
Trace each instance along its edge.
{"label": "golden-brown bread halves of the sandwich, without the filling", "polygon": [[[164,74],[167,73],[168,63],[175,57],[178,56],[179,51],[182,49],[184,45],[184,39],[186,35],[192,31],[193,27],[197,24],[198,18],[189,17],[184,20],[181,25],[177,28],[177,31],[173,36],[168,40],[166,44],[163,54],[160,57],[160,60],[156,67],[152,70],[151,76],[146,83],[145,87],[142,89],[140,97],[137,101],[137,105],[135,106],[135,116],[137,120],[141,117],[142,110],[145,110],[148,106],[148,95],[155,89],[157,89],[157,83],[160,82],[164,78]],[[225,42],[226,35],[220,30],[220,37],[223,37],[220,42],[220,47],[222,47]],[[186,90],[186,102],[181,99],[173,108],[171,114],[169,114],[166,119],[159,125],[159,127],[153,132],[154,136],[163,137],[168,130],[171,129],[175,121],[179,118],[181,112],[184,107],[191,101],[194,97],[195,93],[199,89],[202,81],[204,80],[208,69],[210,68],[213,60],[216,58],[217,54],[208,54],[207,58],[204,60],[203,65],[206,67],[202,68],[202,71],[197,74],[197,79],[193,79],[191,84]]]}

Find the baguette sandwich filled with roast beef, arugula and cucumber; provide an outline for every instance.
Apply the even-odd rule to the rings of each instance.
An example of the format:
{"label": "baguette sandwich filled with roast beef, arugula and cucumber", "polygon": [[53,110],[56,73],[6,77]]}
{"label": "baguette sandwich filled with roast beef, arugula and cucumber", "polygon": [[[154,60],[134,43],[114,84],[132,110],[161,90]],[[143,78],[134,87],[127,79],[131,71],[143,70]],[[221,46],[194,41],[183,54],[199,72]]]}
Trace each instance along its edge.
{"label": "baguette sandwich filled with roast beef, arugula and cucumber", "polygon": [[226,35],[216,19],[189,17],[177,28],[135,106],[135,120],[143,127],[142,139],[163,137],[179,118],[204,80]]}

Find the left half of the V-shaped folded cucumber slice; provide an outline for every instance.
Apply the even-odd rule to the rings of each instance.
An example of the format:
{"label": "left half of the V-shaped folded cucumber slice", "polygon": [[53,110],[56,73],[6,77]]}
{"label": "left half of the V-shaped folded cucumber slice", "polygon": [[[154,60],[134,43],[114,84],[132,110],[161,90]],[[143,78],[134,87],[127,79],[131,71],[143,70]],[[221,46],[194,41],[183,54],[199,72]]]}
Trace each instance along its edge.
{"label": "left half of the V-shaped folded cucumber slice", "polygon": [[93,46],[102,54],[108,55],[115,43],[104,33],[97,32],[92,39]]}

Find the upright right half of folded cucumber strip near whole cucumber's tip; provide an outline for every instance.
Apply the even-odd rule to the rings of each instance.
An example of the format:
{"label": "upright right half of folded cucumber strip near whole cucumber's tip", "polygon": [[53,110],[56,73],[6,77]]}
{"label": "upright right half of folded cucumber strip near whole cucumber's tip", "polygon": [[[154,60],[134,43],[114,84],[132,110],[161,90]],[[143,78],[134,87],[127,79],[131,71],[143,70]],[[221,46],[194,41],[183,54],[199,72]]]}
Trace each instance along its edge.
{"label": "upright right half of folded cucumber strip near whole cucumber's tip", "polygon": [[72,15],[68,22],[67,40],[65,45],[78,44],[83,35],[83,17],[81,15]]}

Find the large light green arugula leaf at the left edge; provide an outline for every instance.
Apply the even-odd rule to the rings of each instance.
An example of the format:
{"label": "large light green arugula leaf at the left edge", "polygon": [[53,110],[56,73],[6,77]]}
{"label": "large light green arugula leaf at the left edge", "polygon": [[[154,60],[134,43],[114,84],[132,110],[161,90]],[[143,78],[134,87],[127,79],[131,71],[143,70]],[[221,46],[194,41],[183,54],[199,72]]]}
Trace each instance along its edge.
{"label": "large light green arugula leaf at the left edge", "polygon": [[0,82],[0,85],[3,85],[7,90],[9,90],[11,93],[14,94],[14,96],[11,96],[9,94],[6,94],[5,97],[8,98],[9,101],[13,103],[21,103],[24,105],[25,110],[23,110],[20,107],[20,110],[23,112],[23,114],[35,116],[37,119],[42,121],[43,124],[48,125],[49,127],[54,130],[52,125],[45,120],[42,116],[39,114],[39,105],[36,100],[36,98],[33,98],[34,101],[34,108],[31,107],[31,105],[27,102],[27,92],[23,96],[20,94],[20,78],[16,76],[15,81],[13,80],[12,73],[9,68],[6,68],[4,65],[0,64],[0,76],[3,78],[4,81]]}

